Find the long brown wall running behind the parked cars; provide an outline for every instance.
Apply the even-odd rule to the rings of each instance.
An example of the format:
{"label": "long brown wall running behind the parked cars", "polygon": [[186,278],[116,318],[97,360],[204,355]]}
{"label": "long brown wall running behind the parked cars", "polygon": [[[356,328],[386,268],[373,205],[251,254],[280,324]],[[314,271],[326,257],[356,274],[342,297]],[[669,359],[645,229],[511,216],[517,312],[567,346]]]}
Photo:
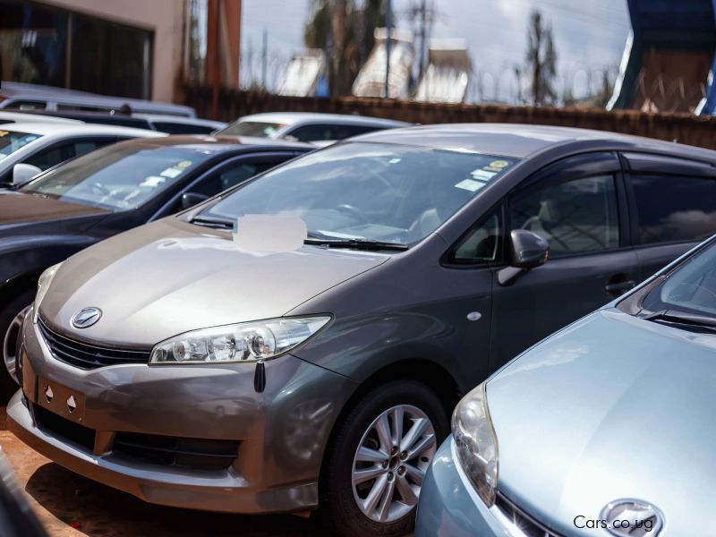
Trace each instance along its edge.
{"label": "long brown wall running behind the parked cars", "polygon": [[[208,87],[187,86],[184,94],[184,104],[195,107],[200,117],[210,117],[212,96]],[[218,114],[213,119],[231,121],[241,115],[279,111],[373,115],[420,124],[490,122],[560,125],[626,132],[716,149],[716,118],[646,114],[635,110],[607,112],[593,108],[447,105],[381,98],[300,98],[222,90],[218,98]]]}

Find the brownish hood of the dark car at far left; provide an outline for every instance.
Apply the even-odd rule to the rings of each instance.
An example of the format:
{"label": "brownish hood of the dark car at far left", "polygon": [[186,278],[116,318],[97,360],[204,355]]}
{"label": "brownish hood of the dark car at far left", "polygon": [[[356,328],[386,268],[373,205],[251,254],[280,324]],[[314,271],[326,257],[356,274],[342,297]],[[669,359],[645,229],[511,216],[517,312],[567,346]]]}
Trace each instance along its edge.
{"label": "brownish hood of the dark car at far left", "polygon": [[11,190],[0,190],[0,230],[5,227],[37,224],[71,217],[107,215],[108,212],[106,209],[89,207],[80,203],[32,196]]}

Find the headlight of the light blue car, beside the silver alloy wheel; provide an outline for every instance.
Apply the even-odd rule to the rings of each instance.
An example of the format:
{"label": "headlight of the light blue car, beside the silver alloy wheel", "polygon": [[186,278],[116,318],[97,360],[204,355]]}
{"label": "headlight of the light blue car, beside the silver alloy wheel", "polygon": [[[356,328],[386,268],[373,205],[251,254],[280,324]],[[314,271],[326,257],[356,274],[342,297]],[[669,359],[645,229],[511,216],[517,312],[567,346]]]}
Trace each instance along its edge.
{"label": "headlight of the light blue car, beside the silver alloy wheel", "polygon": [[452,426],[458,461],[480,498],[491,507],[498,485],[498,439],[484,382],[457,404]]}

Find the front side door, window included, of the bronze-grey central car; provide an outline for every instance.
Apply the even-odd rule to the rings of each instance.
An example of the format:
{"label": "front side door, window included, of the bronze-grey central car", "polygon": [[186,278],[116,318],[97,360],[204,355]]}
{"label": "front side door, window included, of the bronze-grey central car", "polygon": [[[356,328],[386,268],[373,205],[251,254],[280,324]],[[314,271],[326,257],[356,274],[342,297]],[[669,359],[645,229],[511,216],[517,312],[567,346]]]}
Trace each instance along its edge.
{"label": "front side door, window included, of the bronze-grey central car", "polygon": [[550,260],[508,286],[493,279],[491,371],[635,285],[624,190],[618,156],[589,153],[548,166],[507,196],[507,233],[541,235]]}

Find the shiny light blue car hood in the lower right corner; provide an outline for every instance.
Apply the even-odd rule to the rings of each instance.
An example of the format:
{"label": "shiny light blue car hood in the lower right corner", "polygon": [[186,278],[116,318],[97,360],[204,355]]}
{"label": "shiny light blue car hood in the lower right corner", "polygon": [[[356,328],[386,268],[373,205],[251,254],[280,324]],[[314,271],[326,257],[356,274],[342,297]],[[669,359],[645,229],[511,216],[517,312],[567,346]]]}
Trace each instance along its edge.
{"label": "shiny light blue car hood in the lower right corner", "polygon": [[703,534],[714,386],[716,336],[592,313],[488,382],[499,490],[558,533],[593,536],[575,517],[631,498],[660,508],[669,535]]}

